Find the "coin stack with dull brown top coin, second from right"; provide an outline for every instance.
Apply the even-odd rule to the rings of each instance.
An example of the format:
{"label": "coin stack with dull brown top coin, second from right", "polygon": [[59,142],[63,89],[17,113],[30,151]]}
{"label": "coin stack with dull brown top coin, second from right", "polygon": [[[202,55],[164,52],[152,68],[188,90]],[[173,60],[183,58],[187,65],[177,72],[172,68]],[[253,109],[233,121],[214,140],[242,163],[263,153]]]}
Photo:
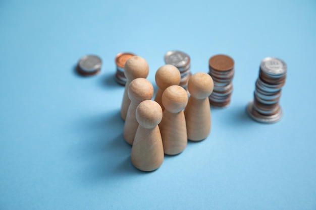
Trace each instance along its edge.
{"label": "coin stack with dull brown top coin, second from right", "polygon": [[215,107],[226,107],[230,104],[233,92],[234,60],[228,55],[214,55],[209,58],[209,75],[214,81],[214,90],[208,97]]}

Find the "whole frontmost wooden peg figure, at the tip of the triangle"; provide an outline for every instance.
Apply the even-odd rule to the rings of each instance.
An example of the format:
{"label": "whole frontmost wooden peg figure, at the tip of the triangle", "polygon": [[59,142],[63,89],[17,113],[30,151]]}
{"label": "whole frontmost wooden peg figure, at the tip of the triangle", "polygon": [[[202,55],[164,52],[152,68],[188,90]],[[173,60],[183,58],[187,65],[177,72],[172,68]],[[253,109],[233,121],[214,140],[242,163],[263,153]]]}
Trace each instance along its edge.
{"label": "whole frontmost wooden peg figure, at the tip of the triangle", "polygon": [[136,109],[139,123],[131,152],[132,164],[142,171],[153,171],[164,161],[164,148],[158,124],[163,117],[161,106],[152,100],[141,102]]}

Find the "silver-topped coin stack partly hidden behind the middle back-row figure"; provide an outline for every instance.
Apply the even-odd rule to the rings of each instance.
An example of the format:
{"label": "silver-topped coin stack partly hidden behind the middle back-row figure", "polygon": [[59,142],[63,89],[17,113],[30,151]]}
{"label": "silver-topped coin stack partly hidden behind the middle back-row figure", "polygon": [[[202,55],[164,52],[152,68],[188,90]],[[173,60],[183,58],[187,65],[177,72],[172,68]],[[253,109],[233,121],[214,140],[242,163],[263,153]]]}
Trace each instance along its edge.
{"label": "silver-topped coin stack partly hidden behind the middle back-row figure", "polygon": [[166,64],[174,65],[179,69],[181,74],[180,86],[187,89],[188,81],[191,76],[190,56],[179,50],[171,50],[165,54],[164,60]]}

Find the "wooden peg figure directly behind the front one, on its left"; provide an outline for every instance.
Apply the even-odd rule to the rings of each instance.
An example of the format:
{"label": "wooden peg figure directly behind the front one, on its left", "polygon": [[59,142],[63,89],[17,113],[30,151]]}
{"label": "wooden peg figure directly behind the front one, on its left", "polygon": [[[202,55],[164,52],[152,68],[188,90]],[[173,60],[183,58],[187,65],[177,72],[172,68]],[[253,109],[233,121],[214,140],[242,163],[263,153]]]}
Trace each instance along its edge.
{"label": "wooden peg figure directly behind the front one, on its left", "polygon": [[136,108],[140,102],[152,98],[153,86],[144,78],[136,78],[130,83],[127,93],[131,103],[126,115],[123,136],[128,144],[133,145],[135,133],[138,128],[135,116]]}

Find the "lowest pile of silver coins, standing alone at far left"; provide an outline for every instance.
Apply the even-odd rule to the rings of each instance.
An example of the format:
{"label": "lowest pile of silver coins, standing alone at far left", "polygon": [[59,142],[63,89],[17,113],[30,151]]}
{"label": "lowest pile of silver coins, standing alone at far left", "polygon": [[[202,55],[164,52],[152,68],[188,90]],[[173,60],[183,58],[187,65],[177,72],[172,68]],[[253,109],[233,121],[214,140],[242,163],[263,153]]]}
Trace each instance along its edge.
{"label": "lowest pile of silver coins, standing alone at far left", "polygon": [[85,55],[80,58],[77,70],[82,75],[96,75],[100,72],[102,60],[96,55]]}

